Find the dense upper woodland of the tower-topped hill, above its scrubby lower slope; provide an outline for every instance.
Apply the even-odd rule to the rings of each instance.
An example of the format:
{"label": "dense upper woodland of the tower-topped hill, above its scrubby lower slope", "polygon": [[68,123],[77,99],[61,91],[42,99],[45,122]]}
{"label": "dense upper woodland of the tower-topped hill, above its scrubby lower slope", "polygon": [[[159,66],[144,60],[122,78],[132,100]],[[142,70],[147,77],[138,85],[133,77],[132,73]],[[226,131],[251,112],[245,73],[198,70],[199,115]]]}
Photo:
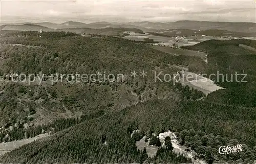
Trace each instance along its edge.
{"label": "dense upper woodland of the tower-topped hill, above its scrubby lower slope", "polygon": [[[109,71],[124,73],[133,70],[154,69],[180,62],[168,54],[116,37],[81,37],[72,33],[47,32],[38,38],[36,32],[7,34],[1,38],[1,73],[92,73]],[[73,35],[73,36],[71,36]],[[24,44],[40,46],[13,46]]]}

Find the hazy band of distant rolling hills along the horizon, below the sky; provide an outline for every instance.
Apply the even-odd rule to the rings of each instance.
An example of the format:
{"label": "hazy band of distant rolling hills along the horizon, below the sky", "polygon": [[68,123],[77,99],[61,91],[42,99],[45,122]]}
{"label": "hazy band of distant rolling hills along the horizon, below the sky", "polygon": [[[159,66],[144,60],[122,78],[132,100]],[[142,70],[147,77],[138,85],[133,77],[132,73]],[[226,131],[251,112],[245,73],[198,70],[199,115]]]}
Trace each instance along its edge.
{"label": "hazy band of distant rolling hills along the horizon, below the sky", "polygon": [[[15,27],[13,24],[8,25],[5,30],[13,30],[21,27]],[[47,27],[49,29],[73,29],[73,28],[91,28],[91,29],[103,29],[103,28],[132,28],[140,29],[144,32],[155,32],[166,36],[177,35],[175,31],[181,31],[182,35],[229,35],[229,36],[247,36],[254,37],[256,33],[256,24],[250,22],[210,22],[210,21],[189,21],[182,20],[176,22],[93,22],[86,24],[78,21],[67,21],[61,24],[55,24],[53,22],[38,22],[29,23],[26,25],[39,25]],[[5,25],[6,26],[6,25]],[[14,26],[14,27],[9,27]],[[2,27],[3,29],[3,27]],[[21,29],[31,29],[24,27]]]}

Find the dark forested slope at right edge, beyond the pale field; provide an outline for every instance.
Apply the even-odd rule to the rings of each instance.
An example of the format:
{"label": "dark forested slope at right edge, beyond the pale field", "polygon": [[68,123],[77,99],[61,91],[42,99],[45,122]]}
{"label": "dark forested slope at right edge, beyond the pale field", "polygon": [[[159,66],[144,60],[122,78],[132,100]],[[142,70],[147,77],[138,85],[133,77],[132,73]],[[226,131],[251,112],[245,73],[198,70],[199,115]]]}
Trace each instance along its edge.
{"label": "dark forested slope at right edge, beyond the pale field", "polygon": [[230,105],[256,106],[256,52],[245,49],[241,44],[256,48],[255,40],[246,39],[209,40],[183,47],[207,52],[208,63],[201,73],[208,77],[216,74],[209,78],[227,88],[211,93],[207,99]]}

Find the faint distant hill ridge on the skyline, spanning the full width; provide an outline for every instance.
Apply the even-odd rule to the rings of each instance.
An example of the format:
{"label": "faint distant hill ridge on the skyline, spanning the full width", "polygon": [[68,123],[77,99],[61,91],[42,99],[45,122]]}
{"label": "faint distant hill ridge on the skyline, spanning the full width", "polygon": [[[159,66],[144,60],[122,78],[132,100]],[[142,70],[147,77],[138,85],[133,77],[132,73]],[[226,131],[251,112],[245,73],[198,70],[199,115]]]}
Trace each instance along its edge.
{"label": "faint distant hill ridge on the skyline, spanning the full width", "polygon": [[[7,26],[7,27],[6,27]],[[29,26],[22,28],[23,31],[36,27],[40,29],[70,29],[70,28],[90,28],[90,29],[105,29],[105,28],[129,28],[139,29],[144,32],[161,32],[170,29],[187,29],[187,30],[222,30],[240,33],[256,33],[256,24],[253,22],[217,22],[217,21],[194,21],[194,20],[180,20],[175,22],[93,22],[90,24],[79,21],[66,21],[60,24],[53,22],[26,22],[26,24],[8,24],[0,26],[1,30],[18,30],[18,27],[10,26]],[[20,28],[20,27],[19,27]],[[32,29],[33,30],[33,29]]]}

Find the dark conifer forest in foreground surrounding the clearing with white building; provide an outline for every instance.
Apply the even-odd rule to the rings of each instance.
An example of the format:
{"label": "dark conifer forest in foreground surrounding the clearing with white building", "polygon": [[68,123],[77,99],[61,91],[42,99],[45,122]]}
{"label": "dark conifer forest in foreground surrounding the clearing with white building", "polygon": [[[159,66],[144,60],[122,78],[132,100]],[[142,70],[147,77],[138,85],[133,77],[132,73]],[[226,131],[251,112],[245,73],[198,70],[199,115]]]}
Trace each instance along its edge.
{"label": "dark conifer forest in foreground surrounding the clearing with white building", "polygon": [[[3,156],[3,162],[141,162],[129,132],[140,129],[148,138],[168,129],[186,146],[198,152],[207,162],[228,163],[255,160],[255,110],[215,103],[183,102],[172,99],[141,103],[122,111],[98,118],[83,119],[80,123],[59,122],[56,128],[70,127]],[[206,119],[207,118],[207,119]],[[57,123],[57,122],[56,122]],[[89,126],[90,125],[90,126]],[[47,129],[47,128],[45,128]],[[53,144],[54,143],[54,144]],[[106,144],[104,144],[106,143]],[[243,151],[229,156],[220,155],[221,145],[243,144]],[[33,150],[28,151],[28,150]],[[160,150],[159,150],[160,151]],[[49,153],[52,152],[52,153]],[[187,162],[162,152],[161,158],[143,160],[159,162]],[[79,158],[77,158],[79,156]]]}

